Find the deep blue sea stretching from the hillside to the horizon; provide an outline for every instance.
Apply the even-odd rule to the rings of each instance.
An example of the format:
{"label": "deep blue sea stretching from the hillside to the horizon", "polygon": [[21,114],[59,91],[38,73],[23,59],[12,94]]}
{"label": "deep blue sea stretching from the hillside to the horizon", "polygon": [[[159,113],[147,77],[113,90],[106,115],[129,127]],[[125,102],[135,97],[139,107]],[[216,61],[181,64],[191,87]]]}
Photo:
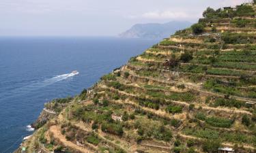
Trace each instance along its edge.
{"label": "deep blue sea stretching from the hillside to the horizon", "polygon": [[[154,39],[116,37],[1,37],[0,152],[13,152],[44,103],[78,95]],[[69,75],[77,70],[78,75]]]}

